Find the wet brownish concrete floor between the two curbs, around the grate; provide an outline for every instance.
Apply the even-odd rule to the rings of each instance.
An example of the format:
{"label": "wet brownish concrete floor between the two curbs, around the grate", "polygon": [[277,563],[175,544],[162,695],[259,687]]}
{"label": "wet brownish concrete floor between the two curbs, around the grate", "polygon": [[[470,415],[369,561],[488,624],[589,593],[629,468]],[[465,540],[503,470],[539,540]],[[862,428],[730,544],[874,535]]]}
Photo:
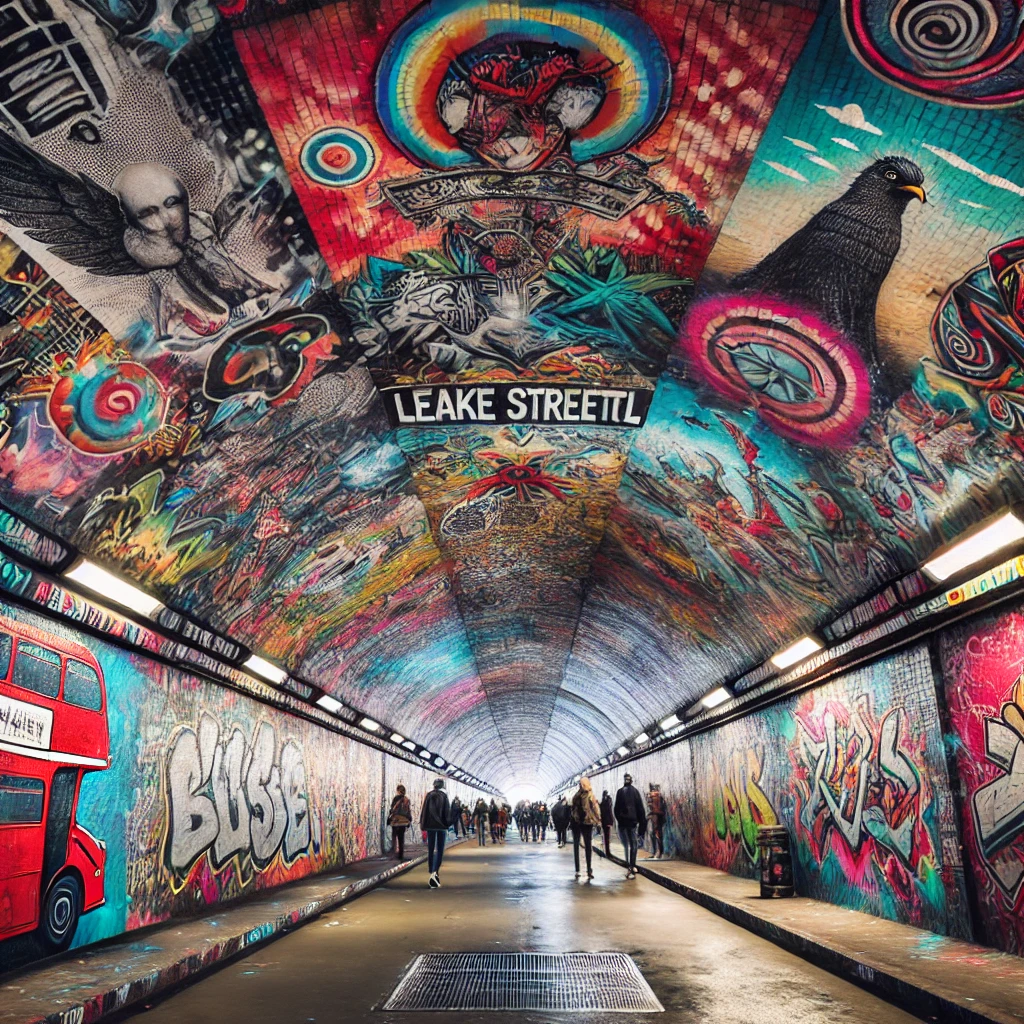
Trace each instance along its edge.
{"label": "wet brownish concrete floor between the two curbs, around the grate", "polygon": [[[903,1024],[918,1020],[644,879],[595,857],[573,880],[570,848],[465,845],[427,888],[426,868],[228,965],[151,1010],[145,1024],[303,1024],[415,1020],[374,1010],[421,952],[622,950],[667,1013],[587,1014],[588,1024]],[[572,1015],[431,1013],[429,1024],[550,1024]]]}

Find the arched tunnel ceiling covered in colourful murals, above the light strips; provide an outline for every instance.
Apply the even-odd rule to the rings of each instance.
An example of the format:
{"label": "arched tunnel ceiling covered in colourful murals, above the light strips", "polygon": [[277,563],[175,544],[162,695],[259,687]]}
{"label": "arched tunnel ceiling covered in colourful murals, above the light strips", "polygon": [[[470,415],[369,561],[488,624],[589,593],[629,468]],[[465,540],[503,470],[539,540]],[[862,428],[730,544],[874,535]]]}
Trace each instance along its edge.
{"label": "arched tunnel ceiling covered in colourful murals, above the light strips", "polygon": [[[1019,12],[949,6],[0,3],[0,497],[557,781],[1020,495]],[[503,383],[654,392],[379,390]]]}

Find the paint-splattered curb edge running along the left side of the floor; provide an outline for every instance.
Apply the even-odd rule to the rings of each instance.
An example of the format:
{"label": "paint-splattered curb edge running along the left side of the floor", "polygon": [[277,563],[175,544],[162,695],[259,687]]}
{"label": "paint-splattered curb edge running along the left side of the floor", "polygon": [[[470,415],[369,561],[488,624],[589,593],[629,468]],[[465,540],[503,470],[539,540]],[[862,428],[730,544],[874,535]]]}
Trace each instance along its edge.
{"label": "paint-splattered curb edge running along the left side of the floor", "polygon": [[[281,938],[286,932],[300,925],[308,924],[322,913],[327,913],[342,903],[348,903],[368,893],[371,889],[376,889],[378,886],[426,862],[427,855],[422,853],[410,860],[394,864],[378,874],[356,879],[341,889],[312,899],[301,906],[293,907],[255,928],[230,935],[207,949],[188,952],[157,971],[139,975],[117,987],[94,992],[83,1001],[66,1010],[27,1018],[25,1024],[92,1024],[92,1022],[101,1020],[111,1014],[127,1010],[143,999],[164,993],[183,982],[196,981],[224,961],[254,946],[269,942],[271,939]],[[169,922],[169,924],[173,924],[173,922]]]}

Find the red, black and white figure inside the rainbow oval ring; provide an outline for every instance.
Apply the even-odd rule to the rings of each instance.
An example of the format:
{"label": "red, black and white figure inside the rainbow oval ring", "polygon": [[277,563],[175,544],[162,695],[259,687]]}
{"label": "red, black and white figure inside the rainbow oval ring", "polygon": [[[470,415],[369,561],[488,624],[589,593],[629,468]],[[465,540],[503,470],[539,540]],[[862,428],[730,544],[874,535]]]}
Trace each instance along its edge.
{"label": "red, black and white figure inside the rainbow oval ring", "polygon": [[529,171],[563,152],[570,132],[597,115],[605,87],[564,47],[520,43],[452,61],[437,113],[459,144],[481,161]]}

